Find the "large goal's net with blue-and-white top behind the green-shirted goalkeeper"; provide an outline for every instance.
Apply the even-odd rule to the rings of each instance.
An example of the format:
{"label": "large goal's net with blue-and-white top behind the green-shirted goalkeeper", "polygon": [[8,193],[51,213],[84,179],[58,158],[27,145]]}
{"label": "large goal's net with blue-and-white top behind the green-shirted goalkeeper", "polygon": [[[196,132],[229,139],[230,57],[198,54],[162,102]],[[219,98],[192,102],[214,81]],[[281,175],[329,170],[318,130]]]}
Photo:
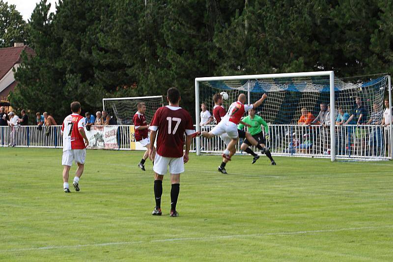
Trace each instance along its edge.
{"label": "large goal's net with blue-and-white top behind the green-shirted goalkeeper", "polygon": [[[389,132],[386,132],[385,136],[383,128],[378,124],[382,120],[388,80],[390,81],[390,78],[387,75],[339,79],[334,78],[332,71],[197,78],[197,129],[200,104],[204,102],[211,113],[214,94],[222,91],[228,93],[229,99],[223,101],[227,110],[240,93],[246,94],[248,103],[255,102],[263,93],[267,93],[267,99],[256,108],[256,114],[269,123],[272,139],[268,146],[272,153],[325,156],[332,160],[336,156],[387,158],[391,156],[391,136]],[[364,113],[361,120],[357,118],[357,98],[361,101],[359,110]],[[318,116],[322,106],[325,106],[326,112],[330,106],[330,116],[323,121],[317,119],[308,125],[310,120]],[[302,112],[305,112],[303,119],[306,118],[309,122],[299,121]],[[323,115],[326,112],[324,111]],[[347,122],[352,114],[356,116]],[[336,121],[338,116],[340,121]],[[347,124],[343,125],[345,122]],[[210,128],[213,126],[214,123]],[[214,146],[208,148],[204,145],[209,143],[202,138],[196,148],[197,153],[200,149],[202,152],[215,151]]]}

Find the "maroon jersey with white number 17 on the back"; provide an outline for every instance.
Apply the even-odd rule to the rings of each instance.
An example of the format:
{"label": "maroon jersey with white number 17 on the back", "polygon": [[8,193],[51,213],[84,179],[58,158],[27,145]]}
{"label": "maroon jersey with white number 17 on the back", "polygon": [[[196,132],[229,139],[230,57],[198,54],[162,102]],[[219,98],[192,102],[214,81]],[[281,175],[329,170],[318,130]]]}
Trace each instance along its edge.
{"label": "maroon jersey with white number 17 on the back", "polygon": [[158,131],[157,153],[165,157],[182,157],[184,133],[193,134],[194,126],[190,113],[181,107],[160,107],[153,116],[150,130]]}

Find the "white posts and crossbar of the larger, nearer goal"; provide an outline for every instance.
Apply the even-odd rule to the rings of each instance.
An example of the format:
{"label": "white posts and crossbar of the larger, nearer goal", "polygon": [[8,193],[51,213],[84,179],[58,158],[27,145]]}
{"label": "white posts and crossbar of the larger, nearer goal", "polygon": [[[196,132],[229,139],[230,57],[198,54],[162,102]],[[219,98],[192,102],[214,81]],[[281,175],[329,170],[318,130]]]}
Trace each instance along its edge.
{"label": "white posts and crossbar of the larger, nearer goal", "polygon": [[[299,72],[299,73],[282,73],[282,74],[263,74],[263,75],[241,75],[241,76],[218,76],[218,77],[197,77],[195,79],[195,118],[197,131],[200,131],[200,110],[199,110],[199,82],[204,81],[225,81],[225,80],[257,80],[267,78],[294,78],[294,77],[314,77],[329,76],[330,83],[330,145],[331,160],[336,160],[336,129],[335,129],[335,73],[334,71],[317,71],[317,72]],[[248,86],[250,89],[250,85]],[[390,92],[390,78],[389,78]],[[248,103],[250,101],[250,91],[248,91]],[[197,155],[200,155],[200,138],[197,138]]]}

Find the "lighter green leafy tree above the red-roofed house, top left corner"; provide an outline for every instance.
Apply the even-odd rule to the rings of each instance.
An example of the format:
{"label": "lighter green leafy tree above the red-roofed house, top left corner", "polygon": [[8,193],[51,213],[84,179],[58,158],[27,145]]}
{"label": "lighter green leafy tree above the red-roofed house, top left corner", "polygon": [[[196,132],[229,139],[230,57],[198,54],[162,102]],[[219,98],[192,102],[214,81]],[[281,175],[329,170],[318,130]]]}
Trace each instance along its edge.
{"label": "lighter green leafy tree above the red-roofed house, top left corner", "polygon": [[0,48],[12,47],[15,42],[25,42],[26,22],[15,9],[0,0]]}

